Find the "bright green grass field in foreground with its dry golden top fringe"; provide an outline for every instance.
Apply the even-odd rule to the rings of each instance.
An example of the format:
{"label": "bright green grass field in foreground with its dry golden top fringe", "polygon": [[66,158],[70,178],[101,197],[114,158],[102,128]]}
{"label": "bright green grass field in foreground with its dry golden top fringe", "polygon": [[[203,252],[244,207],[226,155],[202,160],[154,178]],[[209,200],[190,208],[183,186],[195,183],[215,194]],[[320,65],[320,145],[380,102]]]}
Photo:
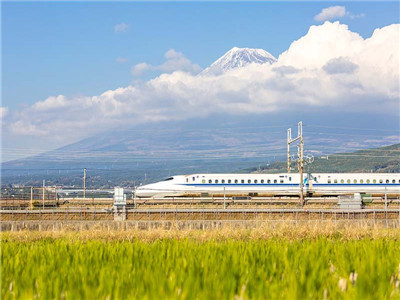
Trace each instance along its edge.
{"label": "bright green grass field in foreground with its dry golden top fringe", "polygon": [[399,236],[2,233],[1,299],[400,298]]}

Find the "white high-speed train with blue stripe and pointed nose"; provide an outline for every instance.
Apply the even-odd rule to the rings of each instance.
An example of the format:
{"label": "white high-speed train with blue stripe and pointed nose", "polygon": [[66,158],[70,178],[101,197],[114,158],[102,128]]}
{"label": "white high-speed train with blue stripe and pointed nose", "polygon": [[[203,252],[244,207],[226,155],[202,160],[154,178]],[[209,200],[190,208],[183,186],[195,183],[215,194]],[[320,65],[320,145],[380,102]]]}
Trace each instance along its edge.
{"label": "white high-speed train with blue stripe and pointed nose", "polygon": [[[201,194],[298,195],[300,174],[191,174],[169,177],[140,186],[136,196],[172,197]],[[304,174],[304,193],[338,195],[345,193],[400,195],[399,173],[312,173]]]}

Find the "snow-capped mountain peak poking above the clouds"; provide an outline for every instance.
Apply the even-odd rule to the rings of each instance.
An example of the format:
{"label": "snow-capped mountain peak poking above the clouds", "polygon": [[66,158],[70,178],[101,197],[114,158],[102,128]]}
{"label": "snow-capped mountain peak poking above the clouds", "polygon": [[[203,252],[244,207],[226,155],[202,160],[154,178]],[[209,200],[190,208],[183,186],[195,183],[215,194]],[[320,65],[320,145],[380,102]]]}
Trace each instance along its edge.
{"label": "snow-capped mountain peak poking above the clouds", "polygon": [[229,70],[242,68],[249,64],[272,64],[276,58],[263,49],[233,47],[222,57],[206,68],[200,75],[220,75]]}

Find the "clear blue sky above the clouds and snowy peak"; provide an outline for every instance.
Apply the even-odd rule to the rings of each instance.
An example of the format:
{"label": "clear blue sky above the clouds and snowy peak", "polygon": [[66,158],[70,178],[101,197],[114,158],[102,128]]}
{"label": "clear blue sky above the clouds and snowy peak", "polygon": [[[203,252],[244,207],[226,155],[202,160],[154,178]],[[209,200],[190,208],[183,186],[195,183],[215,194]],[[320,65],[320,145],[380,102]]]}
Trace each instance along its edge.
{"label": "clear blue sky above the clouds and snowy peak", "polygon": [[[173,48],[207,67],[233,46],[278,56],[324,7],[363,37],[399,21],[399,3],[2,3],[2,105],[18,109],[49,96],[96,95],[129,85],[131,67],[160,64]],[[116,24],[128,28],[115,32]],[[126,63],[116,59],[125,58]],[[146,78],[144,78],[146,79]]]}

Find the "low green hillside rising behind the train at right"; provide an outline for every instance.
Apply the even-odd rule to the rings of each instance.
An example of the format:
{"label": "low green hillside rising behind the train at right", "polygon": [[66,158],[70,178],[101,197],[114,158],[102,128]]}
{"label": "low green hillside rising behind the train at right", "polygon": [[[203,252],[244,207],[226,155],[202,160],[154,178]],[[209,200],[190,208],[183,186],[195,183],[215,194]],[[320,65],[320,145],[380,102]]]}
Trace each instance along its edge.
{"label": "low green hillside rising behind the train at right", "polygon": [[[297,168],[295,162],[292,163],[292,168]],[[260,168],[249,169],[249,171],[254,173],[286,172],[286,162],[278,161],[260,166]],[[400,173],[400,144],[316,157],[311,165],[305,166],[305,171]]]}

